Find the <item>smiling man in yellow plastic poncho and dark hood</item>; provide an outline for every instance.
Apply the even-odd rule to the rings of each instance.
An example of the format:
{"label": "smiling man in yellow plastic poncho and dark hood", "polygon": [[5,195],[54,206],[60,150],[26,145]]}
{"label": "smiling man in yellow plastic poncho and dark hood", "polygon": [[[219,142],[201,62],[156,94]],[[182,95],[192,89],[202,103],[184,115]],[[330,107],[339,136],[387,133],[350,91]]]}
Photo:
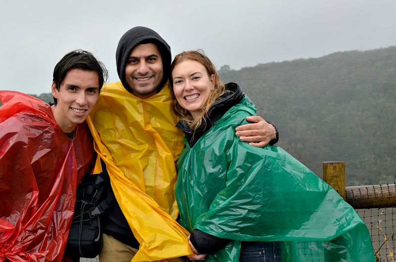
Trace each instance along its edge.
{"label": "smiling man in yellow plastic poncho and dark hood", "polygon": [[[178,260],[193,253],[175,220],[175,162],[184,143],[168,88],[170,47],[153,30],[135,27],[120,39],[116,62],[121,81],[103,87],[87,120],[116,197],[103,218],[99,260]],[[276,142],[272,125],[253,125],[263,127],[264,145]]]}

